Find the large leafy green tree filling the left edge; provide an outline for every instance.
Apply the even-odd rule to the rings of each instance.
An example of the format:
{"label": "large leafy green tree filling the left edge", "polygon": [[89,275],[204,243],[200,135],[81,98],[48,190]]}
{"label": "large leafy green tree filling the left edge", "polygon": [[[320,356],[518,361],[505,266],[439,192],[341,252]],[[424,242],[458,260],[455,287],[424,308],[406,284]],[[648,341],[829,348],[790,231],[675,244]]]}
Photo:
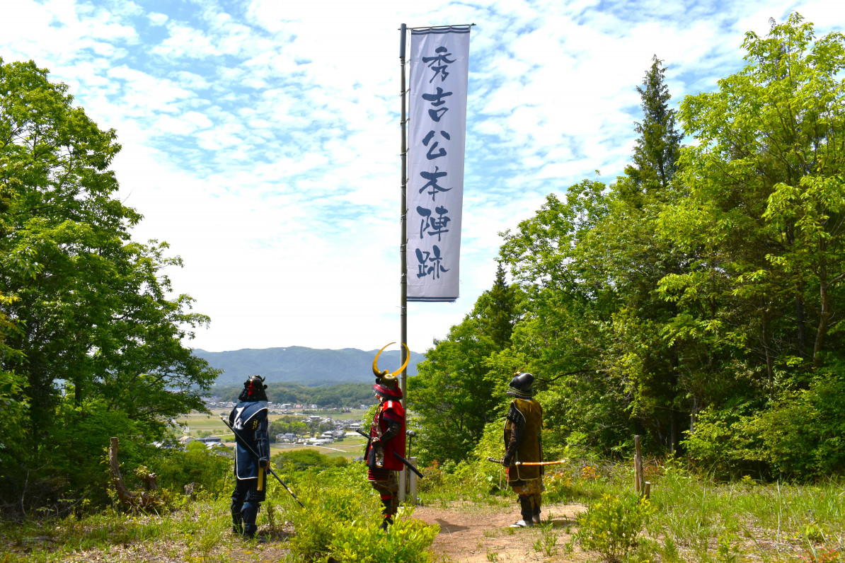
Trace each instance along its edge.
{"label": "large leafy green tree filling the left edge", "polygon": [[216,376],[182,344],[208,318],[169,296],[164,270],[181,261],[165,243],[131,241],[141,216],[116,198],[116,133],[67,90],[34,62],[0,60],[0,315],[16,352],[0,369],[25,377],[13,394],[29,406],[25,447],[3,460],[19,468],[2,472],[18,503],[24,487],[41,502],[63,494],[55,484],[100,480],[107,436],[161,437],[204,408],[198,392]]}

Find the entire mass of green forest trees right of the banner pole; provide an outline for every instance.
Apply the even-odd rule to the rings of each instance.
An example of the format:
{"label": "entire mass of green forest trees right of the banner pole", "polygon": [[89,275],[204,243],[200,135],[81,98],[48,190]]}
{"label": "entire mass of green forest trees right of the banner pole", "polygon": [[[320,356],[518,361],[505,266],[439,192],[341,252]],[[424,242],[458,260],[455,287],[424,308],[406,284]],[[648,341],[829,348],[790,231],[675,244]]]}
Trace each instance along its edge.
{"label": "entire mass of green forest trees right of the banner pole", "polygon": [[841,473],[843,46],[793,14],[679,111],[655,57],[624,176],[505,232],[493,288],[418,366],[425,455],[494,440],[510,377],[532,371],[551,457],[639,434],[719,476]]}

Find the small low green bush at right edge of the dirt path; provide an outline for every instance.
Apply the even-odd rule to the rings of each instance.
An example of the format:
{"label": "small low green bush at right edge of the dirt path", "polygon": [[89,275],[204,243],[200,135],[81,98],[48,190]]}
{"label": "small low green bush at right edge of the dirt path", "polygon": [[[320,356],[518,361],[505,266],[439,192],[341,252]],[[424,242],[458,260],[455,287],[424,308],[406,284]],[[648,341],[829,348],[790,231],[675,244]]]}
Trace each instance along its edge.
{"label": "small low green bush at right edge of the dirt path", "polygon": [[606,561],[622,560],[652,512],[651,503],[635,495],[602,495],[579,515],[575,538],[582,549],[598,551]]}

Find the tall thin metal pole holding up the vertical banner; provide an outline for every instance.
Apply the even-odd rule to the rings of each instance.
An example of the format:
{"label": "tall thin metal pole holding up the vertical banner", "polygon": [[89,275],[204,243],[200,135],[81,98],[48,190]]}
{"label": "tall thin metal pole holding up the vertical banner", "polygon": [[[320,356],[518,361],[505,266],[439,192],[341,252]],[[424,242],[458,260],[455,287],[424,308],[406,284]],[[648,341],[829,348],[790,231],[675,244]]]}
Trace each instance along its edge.
{"label": "tall thin metal pole holding up the vertical banner", "polygon": [[[401,109],[401,117],[400,117],[400,129],[401,129],[401,138],[402,138],[402,146],[401,146],[401,174],[402,174],[402,183],[401,183],[401,208],[399,211],[400,216],[400,242],[399,242],[399,256],[401,260],[401,277],[400,277],[400,305],[399,305],[399,319],[400,319],[400,337],[399,337],[399,349],[401,349],[401,364],[405,365],[405,361],[407,360],[407,352],[406,346],[402,346],[402,344],[407,344],[408,342],[408,266],[407,266],[407,249],[408,249],[408,225],[407,225],[407,217],[408,217],[408,143],[407,143],[407,116],[406,116],[406,87],[405,87],[405,45],[406,45],[406,33],[407,33],[407,26],[406,24],[401,24],[399,28],[399,67],[401,69],[401,84],[399,86],[400,93],[401,93],[401,100],[402,100],[402,109]],[[402,392],[402,409],[407,408],[407,395],[408,395],[408,386],[407,386],[407,367],[402,370],[401,374],[399,374],[399,388]],[[406,410],[407,413],[407,410]],[[406,414],[407,416],[407,414]],[[399,472],[399,501],[405,500],[405,489],[406,489],[406,479],[407,479],[407,470],[406,468],[402,468]]]}

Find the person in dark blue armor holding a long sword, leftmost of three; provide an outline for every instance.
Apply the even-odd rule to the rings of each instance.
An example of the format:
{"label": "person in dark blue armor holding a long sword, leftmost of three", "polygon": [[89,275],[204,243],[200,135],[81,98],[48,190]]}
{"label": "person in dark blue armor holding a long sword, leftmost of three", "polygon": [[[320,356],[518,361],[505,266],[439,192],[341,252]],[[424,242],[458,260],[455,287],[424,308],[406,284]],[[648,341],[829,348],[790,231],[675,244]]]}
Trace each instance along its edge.
{"label": "person in dark blue armor holding a long sword, leftmost of three", "polygon": [[[264,378],[252,376],[243,383],[239,401],[229,413],[229,424],[237,432],[235,447],[235,492],[232,493],[232,532],[254,538],[255,518],[267,495],[264,470],[270,465],[270,432],[267,422],[267,386]],[[245,447],[246,441],[254,452]]]}

